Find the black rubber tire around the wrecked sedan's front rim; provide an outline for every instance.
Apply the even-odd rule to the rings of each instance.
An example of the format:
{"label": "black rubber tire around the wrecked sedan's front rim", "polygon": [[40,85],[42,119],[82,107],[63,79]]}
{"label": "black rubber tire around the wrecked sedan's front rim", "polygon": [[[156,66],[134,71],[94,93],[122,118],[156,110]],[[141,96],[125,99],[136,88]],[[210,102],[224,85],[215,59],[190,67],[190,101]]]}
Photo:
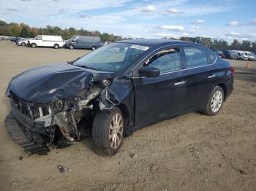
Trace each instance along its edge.
{"label": "black rubber tire around the wrecked sedan's front rim", "polygon": [[[116,114],[120,114],[122,120],[122,132],[121,132],[121,139],[119,138],[119,144],[116,149],[114,149],[110,144],[110,123],[113,120],[113,117]],[[113,156],[116,155],[118,149],[120,149],[121,145],[124,141],[124,117],[121,113],[121,110],[115,108],[111,110],[111,112],[99,111],[96,116],[94,117],[94,122],[92,125],[92,139],[94,141],[94,148],[97,154],[102,156]],[[120,135],[120,134],[119,134]]]}

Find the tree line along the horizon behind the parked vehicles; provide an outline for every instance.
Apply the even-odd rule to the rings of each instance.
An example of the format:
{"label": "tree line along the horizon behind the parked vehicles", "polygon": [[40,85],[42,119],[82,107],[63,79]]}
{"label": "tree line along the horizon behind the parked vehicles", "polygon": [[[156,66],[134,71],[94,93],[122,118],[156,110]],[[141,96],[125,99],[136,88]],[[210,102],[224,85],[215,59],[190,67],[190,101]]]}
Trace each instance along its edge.
{"label": "tree line along the horizon behind the parked vehicles", "polygon": [[[24,23],[5,23],[0,21],[0,36],[20,36],[20,37],[34,37],[39,34],[45,35],[60,35],[63,39],[70,39],[74,35],[89,35],[89,36],[100,36],[102,42],[115,42],[123,38],[121,36],[116,36],[108,33],[100,33],[99,31],[87,31],[83,28],[59,28],[58,26],[46,26],[45,28],[35,28],[30,27]],[[248,40],[243,40],[238,42],[237,39],[234,39],[231,44],[228,44],[227,41],[223,39],[211,39],[205,37],[181,37],[180,40],[195,42],[198,44],[203,44],[204,46],[211,49],[218,50],[245,50],[250,52],[256,52],[256,42],[251,42]]]}

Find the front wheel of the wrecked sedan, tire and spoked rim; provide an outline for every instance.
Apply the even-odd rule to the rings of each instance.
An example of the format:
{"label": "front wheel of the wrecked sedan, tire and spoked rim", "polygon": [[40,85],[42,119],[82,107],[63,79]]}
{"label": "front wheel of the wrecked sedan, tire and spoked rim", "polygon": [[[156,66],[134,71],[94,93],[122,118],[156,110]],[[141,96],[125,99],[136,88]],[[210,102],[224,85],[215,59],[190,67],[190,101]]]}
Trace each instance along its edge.
{"label": "front wheel of the wrecked sedan, tire and spoked rim", "polygon": [[94,117],[92,139],[99,155],[113,156],[124,141],[124,117],[121,110],[98,112]]}

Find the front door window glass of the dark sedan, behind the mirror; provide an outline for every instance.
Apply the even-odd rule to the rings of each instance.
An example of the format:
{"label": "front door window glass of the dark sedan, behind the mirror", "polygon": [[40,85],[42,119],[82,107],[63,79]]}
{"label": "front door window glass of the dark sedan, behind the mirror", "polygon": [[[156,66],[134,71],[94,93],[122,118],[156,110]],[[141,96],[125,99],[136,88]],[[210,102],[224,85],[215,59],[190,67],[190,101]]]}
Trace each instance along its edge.
{"label": "front door window glass of the dark sedan, behind the mirror", "polygon": [[160,74],[181,69],[181,52],[178,47],[169,48],[157,52],[144,66],[154,66],[159,69]]}

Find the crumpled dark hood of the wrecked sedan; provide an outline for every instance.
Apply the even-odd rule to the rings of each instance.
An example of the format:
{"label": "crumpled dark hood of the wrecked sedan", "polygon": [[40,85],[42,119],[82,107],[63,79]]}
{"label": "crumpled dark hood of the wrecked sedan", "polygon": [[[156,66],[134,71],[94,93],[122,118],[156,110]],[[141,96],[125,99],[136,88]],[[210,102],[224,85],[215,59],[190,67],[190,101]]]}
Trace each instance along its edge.
{"label": "crumpled dark hood of the wrecked sedan", "polygon": [[101,80],[110,74],[59,63],[18,74],[12,78],[9,90],[25,101],[48,103],[78,95],[90,82]]}

